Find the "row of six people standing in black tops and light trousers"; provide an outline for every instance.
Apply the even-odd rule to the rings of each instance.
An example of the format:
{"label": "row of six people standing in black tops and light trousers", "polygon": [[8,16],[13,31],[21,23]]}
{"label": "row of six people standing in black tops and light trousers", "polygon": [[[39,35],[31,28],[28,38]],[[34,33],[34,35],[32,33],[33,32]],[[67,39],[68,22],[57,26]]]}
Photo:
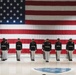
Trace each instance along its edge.
{"label": "row of six people standing in black tops and light trousers", "polygon": [[[22,51],[22,42],[20,38],[18,38],[15,48],[16,48],[16,59],[17,61],[20,61],[20,55]],[[73,54],[74,49],[75,49],[75,44],[73,40],[70,38],[68,42],[66,43],[67,58],[69,61],[72,61],[72,54]],[[3,38],[1,42],[1,60],[2,61],[7,60],[8,50],[9,50],[9,42],[7,39]],[[37,51],[37,44],[34,39],[32,39],[29,44],[29,50],[30,50],[31,61],[35,61],[35,52]],[[45,60],[45,62],[49,62],[51,50],[52,50],[51,42],[49,41],[49,39],[46,39],[42,43],[43,59]],[[58,38],[57,41],[55,42],[55,51],[56,51],[57,61],[60,61],[61,50],[62,50],[62,43],[60,41],[60,38]]]}

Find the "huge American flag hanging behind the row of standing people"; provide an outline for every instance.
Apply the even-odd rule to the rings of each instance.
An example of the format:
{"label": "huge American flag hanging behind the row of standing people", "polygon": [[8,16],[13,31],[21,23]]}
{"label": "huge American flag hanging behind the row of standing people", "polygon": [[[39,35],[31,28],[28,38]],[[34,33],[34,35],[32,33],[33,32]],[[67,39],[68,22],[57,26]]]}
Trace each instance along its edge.
{"label": "huge American flag hanging behind the row of standing people", "polygon": [[54,44],[60,38],[65,53],[69,38],[76,44],[76,0],[0,0],[0,41],[2,38],[8,39],[11,53],[17,38],[23,43],[23,53],[29,52],[31,39],[37,43],[37,53],[42,53],[47,38],[55,53]]}

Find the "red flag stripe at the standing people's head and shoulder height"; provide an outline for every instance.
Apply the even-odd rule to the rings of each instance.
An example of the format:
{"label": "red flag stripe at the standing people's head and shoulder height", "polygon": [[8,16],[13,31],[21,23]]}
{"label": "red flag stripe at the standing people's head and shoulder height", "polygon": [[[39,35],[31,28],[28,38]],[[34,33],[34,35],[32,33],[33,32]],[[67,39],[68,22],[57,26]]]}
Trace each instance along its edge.
{"label": "red flag stripe at the standing people's head and shoulder height", "polygon": [[[49,38],[50,39],[50,38]],[[0,42],[2,41],[2,39],[0,39]],[[43,39],[35,39],[35,41],[36,41],[36,43],[37,44],[42,44],[43,42],[44,42],[44,40]],[[74,43],[76,44],[76,40],[73,40],[74,41]],[[8,42],[10,43],[10,44],[15,44],[16,42],[17,42],[17,39],[8,39]],[[21,39],[21,42],[23,43],[23,44],[29,44],[30,42],[31,42],[31,39]],[[55,44],[55,42],[56,42],[56,40],[51,40],[50,39],[50,42],[52,43],[52,44]],[[61,43],[62,44],[66,44],[68,42],[68,40],[62,40],[61,39]]]}

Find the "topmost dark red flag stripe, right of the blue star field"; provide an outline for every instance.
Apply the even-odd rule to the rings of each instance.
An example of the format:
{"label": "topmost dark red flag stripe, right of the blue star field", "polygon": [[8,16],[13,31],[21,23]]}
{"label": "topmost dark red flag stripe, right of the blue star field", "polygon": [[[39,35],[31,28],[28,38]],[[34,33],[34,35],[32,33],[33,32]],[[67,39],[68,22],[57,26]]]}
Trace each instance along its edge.
{"label": "topmost dark red flag stripe, right of the blue star field", "polygon": [[76,1],[26,1],[25,5],[76,6]]}

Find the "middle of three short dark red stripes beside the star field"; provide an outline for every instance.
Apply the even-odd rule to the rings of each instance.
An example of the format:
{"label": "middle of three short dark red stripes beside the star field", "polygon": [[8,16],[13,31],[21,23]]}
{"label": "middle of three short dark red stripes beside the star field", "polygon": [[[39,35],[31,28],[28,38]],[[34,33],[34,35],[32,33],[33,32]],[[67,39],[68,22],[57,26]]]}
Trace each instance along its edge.
{"label": "middle of three short dark red stripes beside the star field", "polygon": [[[45,13],[44,13],[45,12]],[[76,15],[76,11],[34,11],[34,10],[26,10],[26,15]]]}

